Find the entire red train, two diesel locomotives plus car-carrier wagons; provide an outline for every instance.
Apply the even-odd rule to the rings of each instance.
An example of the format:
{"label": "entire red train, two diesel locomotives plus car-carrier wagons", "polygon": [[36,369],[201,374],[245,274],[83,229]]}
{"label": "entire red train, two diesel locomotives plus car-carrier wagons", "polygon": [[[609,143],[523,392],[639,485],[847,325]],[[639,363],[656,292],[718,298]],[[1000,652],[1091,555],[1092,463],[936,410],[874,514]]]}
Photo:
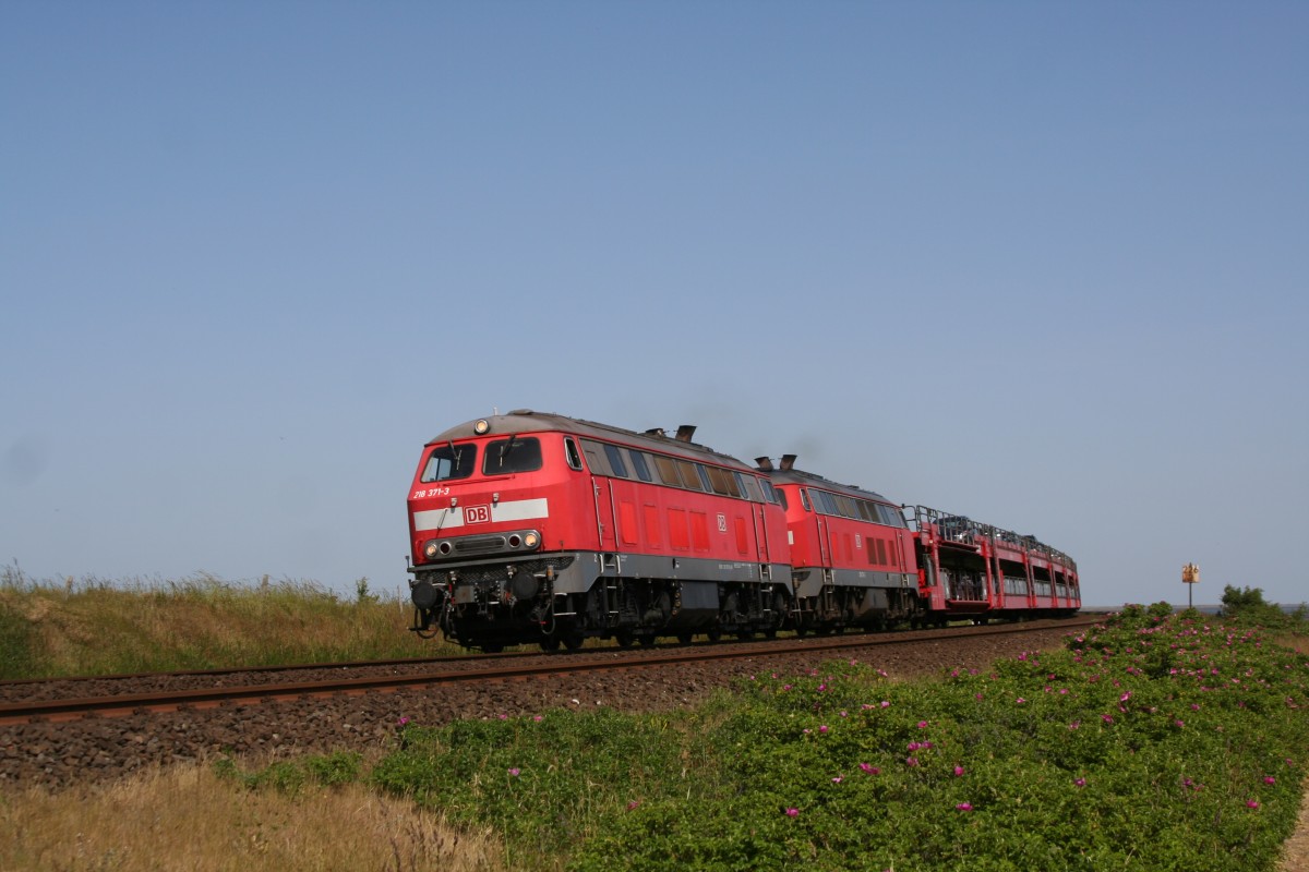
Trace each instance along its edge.
{"label": "entire red train, two diesel locomotives plus car-carrier wagons", "polygon": [[674,435],[526,409],[427,443],[408,497],[414,630],[499,651],[586,637],[826,633],[1071,614],[1076,565],[1030,536],[903,507]]}

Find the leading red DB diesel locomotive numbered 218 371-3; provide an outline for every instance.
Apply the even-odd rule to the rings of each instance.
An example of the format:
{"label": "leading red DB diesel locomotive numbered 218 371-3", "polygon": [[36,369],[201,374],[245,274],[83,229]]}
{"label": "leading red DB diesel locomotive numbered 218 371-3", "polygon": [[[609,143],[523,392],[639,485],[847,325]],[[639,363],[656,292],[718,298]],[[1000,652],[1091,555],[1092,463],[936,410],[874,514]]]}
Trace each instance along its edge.
{"label": "leading red DB diesel locomotive numbered 218 371-3", "polygon": [[692,431],[521,409],[432,439],[408,499],[415,629],[486,651],[775,633],[792,590],[776,493]]}

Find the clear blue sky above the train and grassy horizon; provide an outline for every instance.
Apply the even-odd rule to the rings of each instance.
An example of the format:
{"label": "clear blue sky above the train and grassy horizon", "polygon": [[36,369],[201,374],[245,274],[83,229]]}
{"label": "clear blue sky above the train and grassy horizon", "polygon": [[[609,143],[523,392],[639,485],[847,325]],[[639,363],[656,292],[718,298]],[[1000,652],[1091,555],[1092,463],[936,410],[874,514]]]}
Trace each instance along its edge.
{"label": "clear blue sky above the train and grassy horizon", "polygon": [[0,562],[406,579],[518,407],[1309,600],[1309,4],[0,4]]}

